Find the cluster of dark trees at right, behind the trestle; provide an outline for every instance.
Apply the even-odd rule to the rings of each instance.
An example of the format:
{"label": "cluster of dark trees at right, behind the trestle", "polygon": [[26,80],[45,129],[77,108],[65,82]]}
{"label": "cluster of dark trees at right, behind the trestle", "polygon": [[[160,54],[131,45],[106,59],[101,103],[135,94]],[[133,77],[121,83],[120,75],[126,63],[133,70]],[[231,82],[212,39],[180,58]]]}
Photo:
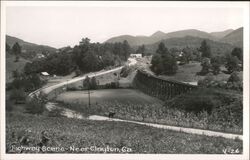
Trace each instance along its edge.
{"label": "cluster of dark trees at right, behind the trestle", "polygon": [[241,48],[235,47],[231,53],[226,55],[213,55],[210,45],[206,40],[203,40],[200,48],[197,49],[189,47],[168,49],[161,42],[158,45],[156,54],[152,57],[151,70],[157,75],[174,75],[178,70],[178,64],[183,65],[190,61],[201,63],[202,69],[197,73],[198,75],[206,75],[208,73],[217,75],[221,72],[221,66],[223,65],[226,67],[228,74],[243,69],[243,53]]}

